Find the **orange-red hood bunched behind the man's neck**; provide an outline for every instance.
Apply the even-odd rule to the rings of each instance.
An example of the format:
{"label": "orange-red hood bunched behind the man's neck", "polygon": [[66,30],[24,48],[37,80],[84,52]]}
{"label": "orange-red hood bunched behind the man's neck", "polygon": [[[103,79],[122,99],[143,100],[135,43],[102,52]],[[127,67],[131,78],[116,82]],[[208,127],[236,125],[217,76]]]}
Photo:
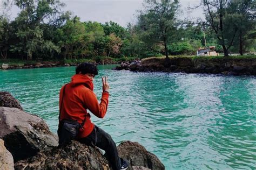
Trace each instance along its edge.
{"label": "orange-red hood bunched behind the man's neck", "polygon": [[83,84],[85,87],[93,91],[93,83],[89,77],[83,74],[75,74],[71,77],[70,85],[72,87]]}

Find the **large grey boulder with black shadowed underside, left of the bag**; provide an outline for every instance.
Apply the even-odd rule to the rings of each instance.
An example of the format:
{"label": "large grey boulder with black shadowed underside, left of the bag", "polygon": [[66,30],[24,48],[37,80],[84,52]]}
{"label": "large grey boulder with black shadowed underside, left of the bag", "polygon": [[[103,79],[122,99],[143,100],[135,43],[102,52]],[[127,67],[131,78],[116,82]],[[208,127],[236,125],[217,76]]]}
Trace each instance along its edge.
{"label": "large grey boulder with black shadowed underside, left of the bag", "polygon": [[36,115],[17,108],[0,107],[0,120],[0,138],[15,162],[58,145],[56,134]]}

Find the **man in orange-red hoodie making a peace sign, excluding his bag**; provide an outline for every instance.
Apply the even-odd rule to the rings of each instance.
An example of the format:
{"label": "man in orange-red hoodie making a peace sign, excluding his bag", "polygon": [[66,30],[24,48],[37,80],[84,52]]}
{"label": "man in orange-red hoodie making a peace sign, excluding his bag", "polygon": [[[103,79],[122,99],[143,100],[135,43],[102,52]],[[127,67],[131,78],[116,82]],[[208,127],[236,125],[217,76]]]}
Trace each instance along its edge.
{"label": "man in orange-red hoodie making a peace sign, excluding his bag", "polygon": [[98,69],[92,63],[85,62],[77,66],[76,74],[72,76],[71,82],[60,90],[60,121],[72,119],[80,124],[84,122],[83,128],[79,129],[77,140],[80,143],[95,145],[104,150],[113,169],[127,169],[128,163],[119,158],[116,144],[110,134],[94,125],[87,112],[89,109],[99,118],[106,115],[109,103],[109,83],[107,77],[102,77],[103,93],[101,102],[98,103],[97,97],[93,93],[92,82],[97,74]]}

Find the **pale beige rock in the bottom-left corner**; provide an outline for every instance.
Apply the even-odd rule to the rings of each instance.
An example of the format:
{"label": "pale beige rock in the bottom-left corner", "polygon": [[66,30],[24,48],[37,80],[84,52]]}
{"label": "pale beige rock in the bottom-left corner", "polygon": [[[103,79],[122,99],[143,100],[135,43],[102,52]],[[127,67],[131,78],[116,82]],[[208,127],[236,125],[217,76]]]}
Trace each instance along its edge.
{"label": "pale beige rock in the bottom-left corner", "polygon": [[14,169],[14,158],[6,150],[3,139],[0,139],[0,169]]}

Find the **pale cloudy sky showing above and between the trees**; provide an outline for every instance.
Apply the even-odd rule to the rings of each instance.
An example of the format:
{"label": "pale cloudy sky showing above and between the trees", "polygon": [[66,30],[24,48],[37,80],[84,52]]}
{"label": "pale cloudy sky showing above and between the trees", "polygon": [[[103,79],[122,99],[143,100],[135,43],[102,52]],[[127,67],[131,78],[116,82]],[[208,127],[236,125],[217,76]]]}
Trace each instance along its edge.
{"label": "pale cloudy sky showing above and between the trees", "polygon": [[[0,0],[2,2],[4,0]],[[136,23],[137,10],[143,8],[143,0],[62,0],[66,4],[64,10],[69,10],[72,14],[80,17],[82,22],[96,21],[100,23],[113,22],[121,26],[126,26],[127,23]],[[199,5],[201,0],[180,0],[182,13],[179,14],[179,19],[197,17],[203,18],[203,10],[188,10],[188,6]],[[12,6],[11,19],[17,16],[18,9]]]}

